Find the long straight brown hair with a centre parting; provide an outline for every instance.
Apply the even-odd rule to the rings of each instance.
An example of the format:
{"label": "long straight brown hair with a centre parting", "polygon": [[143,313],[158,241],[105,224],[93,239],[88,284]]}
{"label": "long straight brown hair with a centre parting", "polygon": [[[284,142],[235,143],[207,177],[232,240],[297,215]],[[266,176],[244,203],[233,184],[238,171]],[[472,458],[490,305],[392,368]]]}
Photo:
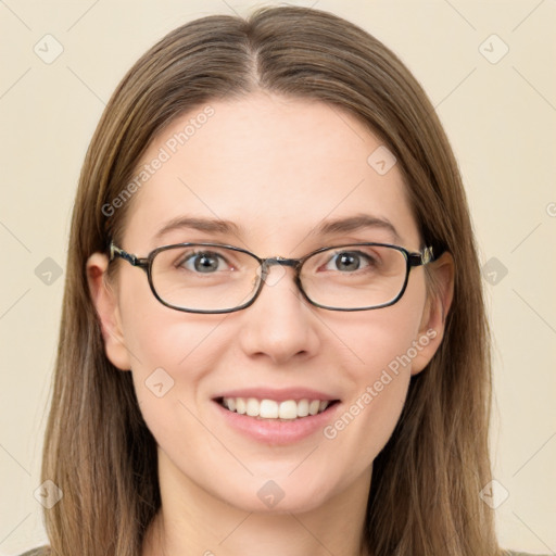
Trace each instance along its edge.
{"label": "long straight brown hair with a centre parting", "polygon": [[[161,506],[155,441],[130,372],[104,355],[85,263],[122,236],[122,194],[152,139],[179,115],[264,89],[351,113],[395,154],[424,244],[455,261],[445,337],[412,379],[401,419],[374,463],[367,547],[374,556],[494,556],[489,331],[457,164],[416,79],[380,41],[332,14],[266,8],[188,23],[151,48],[112,96],[75,203],[43,480],[64,493],[46,510],[52,553],[138,556]],[[113,207],[113,205],[111,205]],[[112,214],[113,213],[113,214]]]}

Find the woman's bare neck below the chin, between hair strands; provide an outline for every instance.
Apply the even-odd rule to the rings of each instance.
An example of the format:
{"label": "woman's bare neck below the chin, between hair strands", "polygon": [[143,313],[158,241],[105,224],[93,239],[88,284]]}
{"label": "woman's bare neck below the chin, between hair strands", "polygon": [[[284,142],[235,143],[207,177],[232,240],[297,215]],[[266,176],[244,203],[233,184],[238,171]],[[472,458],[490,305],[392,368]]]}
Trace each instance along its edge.
{"label": "woman's bare neck below the chin, between hair strands", "polygon": [[[164,456],[162,455],[162,458]],[[160,464],[161,454],[159,454]],[[256,513],[213,496],[160,465],[162,507],[142,556],[363,556],[370,469],[348,490],[306,511]]]}

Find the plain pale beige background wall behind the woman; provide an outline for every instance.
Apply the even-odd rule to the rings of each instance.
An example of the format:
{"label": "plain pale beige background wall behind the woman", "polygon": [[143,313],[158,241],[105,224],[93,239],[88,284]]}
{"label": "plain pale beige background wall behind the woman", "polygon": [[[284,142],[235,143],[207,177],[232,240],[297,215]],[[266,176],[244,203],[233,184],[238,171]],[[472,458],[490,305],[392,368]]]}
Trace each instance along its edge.
{"label": "plain pale beige background wall behind the woman", "polygon": [[[402,56],[438,106],[464,174],[481,260],[489,262],[485,288],[496,342],[492,448],[501,485],[495,502],[508,494],[496,510],[501,543],[554,553],[556,4],[291,3],[314,3],[376,35]],[[46,539],[33,493],[63,277],[54,271],[45,283],[54,266],[43,261],[65,265],[78,173],[104,103],[124,72],[172,28],[201,15],[245,14],[254,5],[260,4],[0,2],[0,555]],[[48,52],[55,52],[53,39],[41,40],[47,34],[63,47],[50,64],[34,51],[38,43],[47,55],[49,40]]]}

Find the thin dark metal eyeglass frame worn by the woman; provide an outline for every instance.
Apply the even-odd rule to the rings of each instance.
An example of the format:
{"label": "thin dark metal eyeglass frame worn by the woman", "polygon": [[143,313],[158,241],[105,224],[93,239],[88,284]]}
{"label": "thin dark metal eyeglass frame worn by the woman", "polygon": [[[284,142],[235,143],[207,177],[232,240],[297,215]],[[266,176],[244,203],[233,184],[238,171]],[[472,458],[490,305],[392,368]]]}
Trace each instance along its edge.
{"label": "thin dark metal eyeglass frame worn by the woman", "polygon": [[[175,248],[186,248],[186,247],[191,247],[191,245],[225,248],[225,249],[229,249],[229,250],[237,251],[240,253],[244,253],[244,254],[250,255],[253,258],[255,258],[258,262],[258,265],[261,268],[261,279],[260,279],[257,289],[256,289],[255,293],[253,294],[253,296],[247,303],[243,303],[242,305],[238,305],[237,307],[225,308],[225,309],[192,309],[192,308],[178,307],[176,305],[173,305],[173,304],[164,301],[159,295],[156,289],[154,288],[154,283],[153,283],[153,279],[152,279],[152,263],[154,261],[154,257],[162,251],[167,251],[169,249],[175,249]],[[362,247],[363,245],[366,245],[366,247],[376,245],[376,247],[383,247],[383,248],[392,248],[392,249],[400,251],[404,255],[405,262],[406,262],[405,280],[404,280],[404,283],[403,283],[403,287],[402,287],[400,293],[392,301],[389,301],[388,303],[382,303],[381,305],[375,305],[375,306],[370,306],[370,307],[349,307],[349,308],[330,307],[328,305],[321,305],[320,303],[316,303],[315,301],[313,301],[307,295],[305,290],[303,289],[303,286],[301,283],[301,278],[300,278],[301,268],[302,268],[303,264],[305,263],[305,261],[307,258],[312,257],[313,255],[316,255],[317,253],[321,253],[324,251],[329,251],[332,249],[348,248],[348,247],[357,247],[357,245],[362,245]],[[414,267],[425,266],[429,263],[432,263],[432,262],[437,261],[441,254],[442,253],[440,253],[439,255],[434,255],[432,247],[424,248],[421,252],[412,252],[401,245],[394,245],[391,243],[377,243],[377,242],[370,241],[370,242],[358,242],[358,243],[342,243],[341,245],[324,247],[324,248],[319,248],[315,251],[312,251],[311,253],[302,256],[301,258],[287,258],[287,257],[282,257],[282,256],[261,258],[257,255],[255,255],[254,253],[251,253],[251,251],[248,251],[242,248],[238,248],[236,245],[228,245],[225,243],[210,243],[210,242],[207,242],[207,243],[186,242],[186,243],[173,243],[170,245],[161,245],[159,248],[153,249],[146,257],[139,257],[137,255],[128,253],[127,251],[125,251],[122,248],[118,248],[113,241],[111,241],[110,242],[110,260],[109,260],[109,262],[111,263],[111,262],[115,261],[116,257],[119,257],[119,258],[123,258],[124,261],[127,261],[131,266],[136,266],[136,267],[144,270],[147,273],[149,286],[151,288],[153,295],[156,298],[156,300],[160,303],[162,303],[164,306],[166,306],[168,308],[173,308],[175,311],[181,311],[184,313],[217,315],[217,314],[224,314],[224,313],[236,313],[237,311],[242,311],[242,309],[251,306],[256,301],[256,299],[258,298],[261,292],[263,291],[263,283],[265,282],[266,275],[268,274],[268,268],[274,265],[289,266],[289,267],[293,268],[295,270],[294,281],[295,281],[295,285],[298,286],[299,291],[302,293],[303,298],[308,303],[311,303],[312,305],[314,305],[316,307],[325,308],[327,311],[343,311],[343,312],[372,311],[376,308],[389,307],[389,306],[397,303],[402,299],[403,294],[405,293],[407,283],[409,281],[410,269]]]}

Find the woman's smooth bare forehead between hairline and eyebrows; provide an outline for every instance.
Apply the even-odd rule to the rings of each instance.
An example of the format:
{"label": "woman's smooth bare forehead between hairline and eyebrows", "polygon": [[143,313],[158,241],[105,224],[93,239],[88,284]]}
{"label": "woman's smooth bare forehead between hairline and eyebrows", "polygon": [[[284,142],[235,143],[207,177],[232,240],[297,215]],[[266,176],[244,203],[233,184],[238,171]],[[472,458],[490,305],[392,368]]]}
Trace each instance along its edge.
{"label": "woman's smooth bare forehead between hairline and eyebrows", "polygon": [[258,252],[289,252],[302,238],[318,242],[315,230],[328,220],[366,215],[392,223],[396,239],[417,248],[394,161],[355,117],[323,102],[263,92],[207,102],[167,126],[139,162],[125,244],[144,252],[205,238],[175,230],[162,241],[161,228],[187,217],[229,222]]}

